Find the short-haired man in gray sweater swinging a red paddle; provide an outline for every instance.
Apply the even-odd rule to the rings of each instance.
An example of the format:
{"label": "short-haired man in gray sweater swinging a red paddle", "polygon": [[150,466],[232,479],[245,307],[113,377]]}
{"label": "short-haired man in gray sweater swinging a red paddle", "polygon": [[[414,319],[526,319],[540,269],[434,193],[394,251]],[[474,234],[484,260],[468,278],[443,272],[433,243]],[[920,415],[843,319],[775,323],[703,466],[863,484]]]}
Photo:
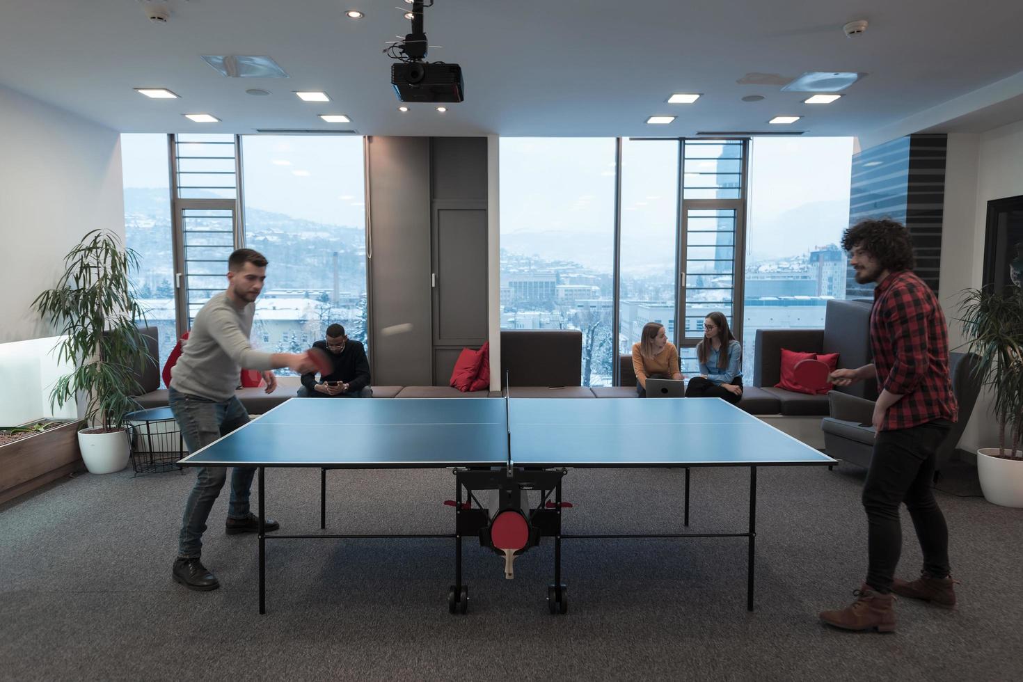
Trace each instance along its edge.
{"label": "short-haired man in gray sweater swinging a red paddle", "polygon": [[[249,421],[241,401],[234,395],[241,368],[263,370],[266,392],[277,379],[269,371],[288,367],[298,373],[314,368],[305,353],[260,353],[249,343],[256,299],[266,279],[267,261],[252,248],[238,248],[227,260],[227,290],[214,295],[195,315],[187,343],[171,370],[170,406],[181,428],[188,452],[195,452]],[[252,533],[259,520],[249,511],[249,493],[255,467],[235,466],[231,473],[231,499],[227,533]],[[215,590],[217,578],[199,561],[203,532],[213,503],[227,480],[223,466],[201,467],[185,503],[174,580],[193,590]],[[280,525],[266,520],[266,530]]]}

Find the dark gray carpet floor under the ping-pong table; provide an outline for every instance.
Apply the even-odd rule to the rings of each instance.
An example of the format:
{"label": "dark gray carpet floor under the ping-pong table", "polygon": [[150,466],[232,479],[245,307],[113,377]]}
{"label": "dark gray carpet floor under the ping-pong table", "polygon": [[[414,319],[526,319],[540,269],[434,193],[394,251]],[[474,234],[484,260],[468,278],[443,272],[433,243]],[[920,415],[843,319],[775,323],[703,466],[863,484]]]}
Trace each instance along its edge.
{"label": "dark gray carpet floor under the ping-pong table", "polygon": [[[976,475],[961,467],[958,475]],[[680,528],[681,469],[575,470],[567,533]],[[254,536],[205,538],[214,592],[171,580],[186,471],[83,474],[0,508],[3,680],[1018,680],[1023,510],[938,492],[954,611],[911,600],[893,635],[820,625],[865,570],[862,470],[763,468],[756,610],[742,539],[566,541],[567,616],[545,605],[552,549],[516,561],[470,544],[470,611],[447,612],[448,540],[268,543],[259,616]],[[746,528],[747,469],[693,471],[690,531]],[[268,511],[318,532],[318,470],[267,474]],[[949,490],[971,490],[966,484]],[[328,532],[448,533],[449,471],[331,471]],[[254,495],[255,501],[255,495]],[[904,515],[900,575],[921,562]]]}

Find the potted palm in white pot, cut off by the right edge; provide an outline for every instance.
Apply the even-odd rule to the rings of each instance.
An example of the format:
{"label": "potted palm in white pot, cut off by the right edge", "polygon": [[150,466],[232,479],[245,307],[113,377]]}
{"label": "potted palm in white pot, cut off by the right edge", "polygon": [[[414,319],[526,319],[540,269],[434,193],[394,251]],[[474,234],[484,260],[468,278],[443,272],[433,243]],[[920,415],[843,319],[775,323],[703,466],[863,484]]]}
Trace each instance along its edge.
{"label": "potted palm in white pot, cut off by the right edge", "polygon": [[998,447],[977,451],[980,487],[988,502],[1023,507],[1023,289],[967,289],[962,315],[967,346],[979,358],[975,375],[990,389],[998,422]]}

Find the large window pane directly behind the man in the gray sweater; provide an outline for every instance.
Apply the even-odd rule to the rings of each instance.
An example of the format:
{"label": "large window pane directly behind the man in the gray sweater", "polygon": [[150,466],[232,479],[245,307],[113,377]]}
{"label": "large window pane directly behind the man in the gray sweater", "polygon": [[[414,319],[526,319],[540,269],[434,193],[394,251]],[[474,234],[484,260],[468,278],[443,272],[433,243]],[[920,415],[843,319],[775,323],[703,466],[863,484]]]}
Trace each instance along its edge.
{"label": "large window pane directly behind the man in the gray sweater", "polygon": [[366,343],[362,154],[359,137],[242,138],[244,244],[270,262],[253,324],[264,350],[304,351],[335,322]]}

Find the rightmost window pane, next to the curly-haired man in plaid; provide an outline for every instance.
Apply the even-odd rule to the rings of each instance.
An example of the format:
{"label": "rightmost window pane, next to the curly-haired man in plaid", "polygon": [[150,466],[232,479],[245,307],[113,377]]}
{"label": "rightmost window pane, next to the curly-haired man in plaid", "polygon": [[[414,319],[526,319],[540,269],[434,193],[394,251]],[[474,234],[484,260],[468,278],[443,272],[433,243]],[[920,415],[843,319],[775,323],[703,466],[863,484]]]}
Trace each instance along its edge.
{"label": "rightmost window pane, next to the curly-haired man in plaid", "polygon": [[744,373],[757,329],[821,328],[845,298],[852,138],[755,138],[746,239]]}

